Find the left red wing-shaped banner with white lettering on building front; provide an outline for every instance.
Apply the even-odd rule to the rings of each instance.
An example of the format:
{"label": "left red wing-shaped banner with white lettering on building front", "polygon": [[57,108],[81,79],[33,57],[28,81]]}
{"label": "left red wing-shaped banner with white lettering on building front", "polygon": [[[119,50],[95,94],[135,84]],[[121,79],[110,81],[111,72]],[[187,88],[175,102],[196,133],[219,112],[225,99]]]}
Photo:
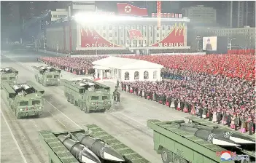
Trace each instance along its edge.
{"label": "left red wing-shaped banner with white lettering on building front", "polygon": [[81,30],[81,47],[122,47],[100,36],[97,31],[82,28]]}

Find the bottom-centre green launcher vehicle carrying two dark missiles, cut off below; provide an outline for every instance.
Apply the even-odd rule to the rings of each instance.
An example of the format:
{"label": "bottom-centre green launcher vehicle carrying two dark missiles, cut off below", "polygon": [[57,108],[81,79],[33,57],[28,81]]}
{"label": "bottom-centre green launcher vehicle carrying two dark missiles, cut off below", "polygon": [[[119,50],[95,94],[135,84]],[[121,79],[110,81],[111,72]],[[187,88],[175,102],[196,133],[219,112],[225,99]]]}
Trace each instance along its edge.
{"label": "bottom-centre green launcher vehicle carrying two dark missiles, cut off below", "polygon": [[88,131],[39,131],[50,163],[150,163],[96,124],[86,127]]}

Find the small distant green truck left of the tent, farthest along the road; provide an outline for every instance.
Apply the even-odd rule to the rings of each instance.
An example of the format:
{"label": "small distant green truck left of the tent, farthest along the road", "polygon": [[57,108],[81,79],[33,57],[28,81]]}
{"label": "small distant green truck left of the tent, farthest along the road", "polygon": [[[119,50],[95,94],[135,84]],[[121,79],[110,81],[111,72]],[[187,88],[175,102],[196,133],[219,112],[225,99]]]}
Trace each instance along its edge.
{"label": "small distant green truck left of the tent, farthest along the road", "polygon": [[44,87],[60,84],[61,70],[50,66],[32,66],[35,69],[35,79]]}

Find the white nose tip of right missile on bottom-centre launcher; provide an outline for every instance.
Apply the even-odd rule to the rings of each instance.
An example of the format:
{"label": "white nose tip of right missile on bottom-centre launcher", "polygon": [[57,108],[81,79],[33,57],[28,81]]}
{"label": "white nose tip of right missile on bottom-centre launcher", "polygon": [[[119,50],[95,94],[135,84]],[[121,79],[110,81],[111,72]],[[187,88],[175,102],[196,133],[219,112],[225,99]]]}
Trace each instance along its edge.
{"label": "white nose tip of right missile on bottom-centre launcher", "polygon": [[105,148],[103,156],[104,156],[104,159],[109,160],[109,161],[125,162],[125,159],[123,158],[123,156],[111,147]]}

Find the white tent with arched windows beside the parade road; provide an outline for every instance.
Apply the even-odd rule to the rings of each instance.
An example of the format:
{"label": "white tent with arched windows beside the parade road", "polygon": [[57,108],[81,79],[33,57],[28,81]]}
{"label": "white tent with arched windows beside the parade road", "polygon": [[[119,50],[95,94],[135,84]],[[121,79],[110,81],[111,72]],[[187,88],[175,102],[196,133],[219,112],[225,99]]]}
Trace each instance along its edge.
{"label": "white tent with arched windows beside the parade road", "polygon": [[93,65],[101,79],[104,77],[103,72],[109,70],[110,79],[121,81],[160,81],[160,69],[163,68],[163,65],[156,63],[124,57],[106,57],[94,61]]}

